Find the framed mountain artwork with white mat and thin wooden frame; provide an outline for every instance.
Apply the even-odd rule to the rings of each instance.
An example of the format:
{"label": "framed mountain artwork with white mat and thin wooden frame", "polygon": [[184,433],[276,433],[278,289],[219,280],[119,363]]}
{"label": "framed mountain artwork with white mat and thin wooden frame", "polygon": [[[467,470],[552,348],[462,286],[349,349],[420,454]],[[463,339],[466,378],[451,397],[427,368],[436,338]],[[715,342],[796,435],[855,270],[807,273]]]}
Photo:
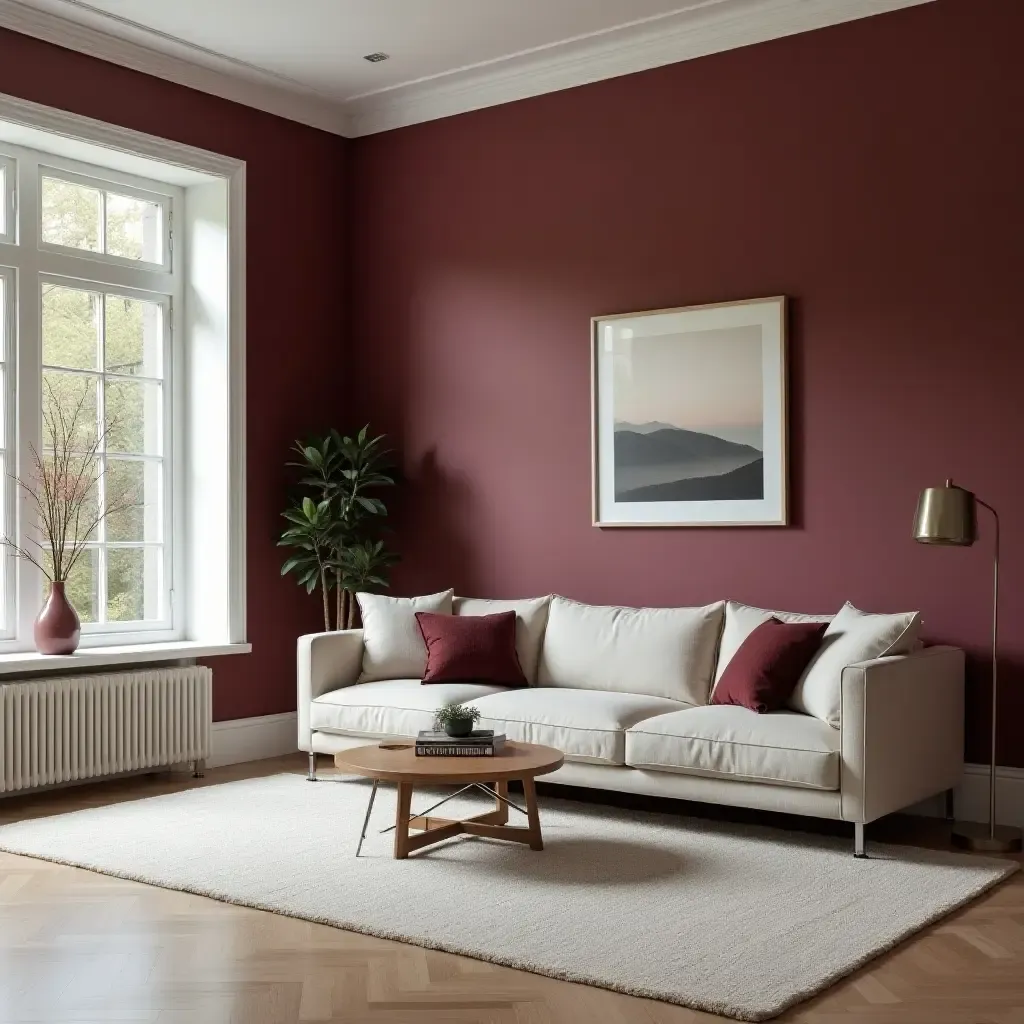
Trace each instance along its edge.
{"label": "framed mountain artwork with white mat and thin wooden frame", "polygon": [[592,321],[596,526],[784,526],[785,299]]}

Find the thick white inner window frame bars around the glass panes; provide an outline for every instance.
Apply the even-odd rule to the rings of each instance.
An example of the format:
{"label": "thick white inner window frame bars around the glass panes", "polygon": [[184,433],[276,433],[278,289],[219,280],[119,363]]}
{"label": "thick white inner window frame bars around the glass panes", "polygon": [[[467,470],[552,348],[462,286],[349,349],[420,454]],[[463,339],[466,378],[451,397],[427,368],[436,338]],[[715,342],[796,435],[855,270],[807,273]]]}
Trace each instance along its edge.
{"label": "thick white inner window frame bars around the glass panes", "polygon": [[[135,175],[83,164],[39,151],[0,142],[0,154],[12,159],[17,168],[18,244],[0,248],[0,266],[12,264],[18,280],[17,343],[8,353],[7,366],[16,364],[16,374],[7,381],[7,401],[16,404],[17,465],[19,471],[31,465],[30,444],[41,450],[42,424],[42,287],[45,283],[69,288],[123,295],[128,298],[158,302],[165,309],[162,386],[164,488],[162,495],[161,543],[164,545],[161,610],[159,618],[130,623],[83,623],[82,647],[161,643],[176,641],[184,635],[183,609],[177,586],[183,572],[183,539],[176,528],[182,519],[176,515],[182,486],[181,452],[183,450],[179,388],[175,382],[184,380],[183,351],[179,333],[175,330],[175,310],[183,304],[184,273],[179,265],[183,259],[173,251],[173,211],[183,202],[182,189],[140,179]],[[76,184],[117,195],[132,195],[153,202],[159,198],[163,209],[162,228],[165,231],[163,255],[165,263],[146,263],[105,253],[90,252],[42,241],[42,179],[55,177]],[[157,191],[156,189],[160,189]],[[102,207],[101,207],[102,209]],[[179,317],[180,318],[180,317]],[[59,369],[59,368],[55,368]],[[103,374],[99,367],[96,376]],[[37,396],[35,400],[27,396]],[[15,522],[20,537],[26,537],[32,524],[31,509],[24,500],[13,496]],[[8,514],[10,510],[8,509]],[[112,550],[111,548],[106,549]],[[14,563],[12,565],[12,562]],[[99,561],[104,564],[103,559]],[[10,559],[5,565],[4,583],[13,589],[16,618],[8,611],[7,628],[0,633],[0,656],[5,651],[30,649],[32,627],[39,612],[43,594],[43,579],[39,569],[27,559]],[[12,569],[14,570],[12,572]],[[15,582],[10,582],[11,575]],[[105,595],[105,580],[97,581],[98,600]],[[8,609],[11,605],[7,605]],[[105,607],[98,605],[101,615]]]}

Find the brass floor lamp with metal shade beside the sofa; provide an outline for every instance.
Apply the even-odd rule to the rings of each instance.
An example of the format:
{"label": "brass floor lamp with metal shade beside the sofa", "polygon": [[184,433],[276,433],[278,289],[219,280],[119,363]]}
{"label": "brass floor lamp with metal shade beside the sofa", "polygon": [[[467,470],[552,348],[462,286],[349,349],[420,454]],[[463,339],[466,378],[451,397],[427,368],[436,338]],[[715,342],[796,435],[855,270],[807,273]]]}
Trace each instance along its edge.
{"label": "brass floor lamp with metal shade beside the sofa", "polygon": [[999,642],[999,517],[991,505],[946,480],[944,487],[926,487],[918,500],[913,539],[920,544],[970,547],[978,540],[977,506],[988,509],[995,520],[995,552],[992,573],[992,764],[988,776],[988,824],[975,821],[953,823],[952,843],[964,850],[1014,853],[1021,849],[1021,830],[995,823],[995,736],[998,714]]}

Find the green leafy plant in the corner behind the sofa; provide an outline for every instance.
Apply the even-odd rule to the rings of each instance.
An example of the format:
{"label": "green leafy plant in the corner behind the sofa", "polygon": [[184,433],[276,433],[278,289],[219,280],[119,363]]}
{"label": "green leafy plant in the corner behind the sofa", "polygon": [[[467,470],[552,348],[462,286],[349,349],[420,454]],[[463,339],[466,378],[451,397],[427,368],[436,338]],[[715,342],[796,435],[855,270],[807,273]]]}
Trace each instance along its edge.
{"label": "green leafy plant in the corner behind the sofa", "polygon": [[356,591],[387,587],[388,569],[397,556],[380,538],[384,503],[372,492],[394,485],[384,435],[370,436],[365,426],[354,437],[331,430],[308,442],[296,441],[302,471],[299,490],[282,513],[288,527],[278,542],[293,554],[281,567],[311,594],[321,588],[324,628],[331,629],[330,592],[335,591],[335,629],[355,624]]}

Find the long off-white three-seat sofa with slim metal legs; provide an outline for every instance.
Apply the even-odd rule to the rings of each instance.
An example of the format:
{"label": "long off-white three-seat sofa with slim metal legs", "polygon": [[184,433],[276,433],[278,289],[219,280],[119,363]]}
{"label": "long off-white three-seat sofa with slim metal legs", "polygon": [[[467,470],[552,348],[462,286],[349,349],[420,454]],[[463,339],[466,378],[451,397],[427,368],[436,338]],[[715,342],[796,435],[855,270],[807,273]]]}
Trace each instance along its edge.
{"label": "long off-white three-seat sofa with slim metal legs", "polygon": [[[857,856],[865,823],[948,793],[961,778],[958,649],[915,643],[907,653],[842,664],[836,645],[829,712],[820,693],[798,692],[791,710],[757,715],[709,700],[742,641],[743,615],[760,609],[603,608],[563,598],[456,598],[452,607],[463,614],[517,607],[517,649],[530,685],[367,680],[361,630],[301,637],[298,738],[311,779],[316,754],[415,736],[449,700],[471,701],[481,726],[510,739],[564,752],[565,764],[544,782],[850,821]],[[817,716],[807,714],[815,701]]]}

